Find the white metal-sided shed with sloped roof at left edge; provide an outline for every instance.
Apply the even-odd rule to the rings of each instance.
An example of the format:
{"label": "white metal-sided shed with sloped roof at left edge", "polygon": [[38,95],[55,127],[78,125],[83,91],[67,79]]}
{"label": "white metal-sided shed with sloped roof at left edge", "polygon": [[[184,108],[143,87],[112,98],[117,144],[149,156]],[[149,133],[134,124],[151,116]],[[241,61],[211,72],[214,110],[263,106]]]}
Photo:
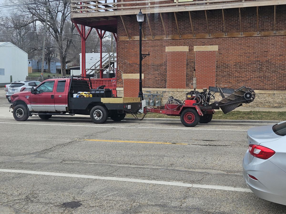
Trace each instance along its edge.
{"label": "white metal-sided shed with sloped roof at left edge", "polygon": [[0,84],[25,80],[28,54],[11,42],[0,42]]}

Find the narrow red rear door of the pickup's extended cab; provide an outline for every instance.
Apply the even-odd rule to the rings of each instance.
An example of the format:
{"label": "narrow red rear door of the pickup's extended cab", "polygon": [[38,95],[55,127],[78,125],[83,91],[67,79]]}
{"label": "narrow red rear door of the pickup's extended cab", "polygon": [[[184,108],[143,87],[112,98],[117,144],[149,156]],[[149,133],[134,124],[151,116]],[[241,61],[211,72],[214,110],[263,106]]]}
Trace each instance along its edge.
{"label": "narrow red rear door of the pickup's extended cab", "polygon": [[55,90],[55,110],[64,112],[67,107],[67,94],[68,87],[66,86],[66,80],[58,80],[57,88]]}

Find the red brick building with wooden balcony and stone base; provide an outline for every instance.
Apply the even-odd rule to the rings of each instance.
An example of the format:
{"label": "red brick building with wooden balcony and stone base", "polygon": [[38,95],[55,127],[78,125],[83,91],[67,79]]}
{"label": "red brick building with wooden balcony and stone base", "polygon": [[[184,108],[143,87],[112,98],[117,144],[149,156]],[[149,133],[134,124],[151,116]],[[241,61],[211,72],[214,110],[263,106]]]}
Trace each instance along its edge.
{"label": "red brick building with wooden balcony and stone base", "polygon": [[183,99],[195,75],[198,89],[246,85],[257,92],[252,106],[285,107],[284,1],[104,2],[86,5],[85,13],[72,6],[72,20],[116,33],[118,95],[138,96],[136,14],[142,8],[142,53],[150,52],[142,62],[143,92]]}

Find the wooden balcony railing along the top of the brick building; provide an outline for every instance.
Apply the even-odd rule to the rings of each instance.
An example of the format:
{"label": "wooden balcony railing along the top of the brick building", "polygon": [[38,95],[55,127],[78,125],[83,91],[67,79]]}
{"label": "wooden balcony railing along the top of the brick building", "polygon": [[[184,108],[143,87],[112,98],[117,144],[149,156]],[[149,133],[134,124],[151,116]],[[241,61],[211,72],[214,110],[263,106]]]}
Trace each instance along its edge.
{"label": "wooden balcony railing along the top of the brick building", "polygon": [[[122,10],[139,10],[139,9],[156,9],[156,8],[170,8],[179,6],[195,6],[195,5],[211,5],[211,4],[228,4],[228,3],[242,3],[242,2],[257,2],[265,0],[194,0],[194,1],[181,1],[181,0],[143,0],[143,1],[86,1],[78,0],[71,1],[72,13],[90,13],[90,12],[112,12]],[[106,3],[108,2],[108,3]],[[157,12],[164,12],[157,11]],[[138,13],[138,11],[137,11]],[[115,15],[115,14],[114,14]],[[119,14],[120,15],[120,14]]]}

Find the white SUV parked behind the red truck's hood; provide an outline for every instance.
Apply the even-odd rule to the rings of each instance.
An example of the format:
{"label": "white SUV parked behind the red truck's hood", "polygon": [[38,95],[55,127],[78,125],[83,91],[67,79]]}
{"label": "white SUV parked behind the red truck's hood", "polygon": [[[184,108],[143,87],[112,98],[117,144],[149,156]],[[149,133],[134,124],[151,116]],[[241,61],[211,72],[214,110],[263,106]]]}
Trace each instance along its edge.
{"label": "white SUV parked behind the red truck's hood", "polygon": [[7,90],[5,88],[8,102],[11,103],[10,97],[12,94],[20,91],[30,91],[32,87],[35,87],[40,83],[41,82],[35,80],[12,82],[8,87],[6,86]]}

